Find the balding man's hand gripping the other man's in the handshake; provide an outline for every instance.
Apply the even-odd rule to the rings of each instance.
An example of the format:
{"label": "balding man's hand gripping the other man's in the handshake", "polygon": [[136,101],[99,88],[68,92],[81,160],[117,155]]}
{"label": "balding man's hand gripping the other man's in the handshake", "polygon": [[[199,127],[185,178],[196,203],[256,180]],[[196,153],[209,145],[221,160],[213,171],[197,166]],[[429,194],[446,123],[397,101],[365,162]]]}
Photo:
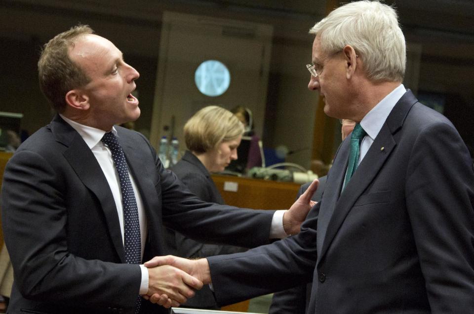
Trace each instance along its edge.
{"label": "balding man's hand gripping the other man's in the handshake", "polygon": [[[155,295],[151,301],[166,308],[179,306],[195,295],[193,289],[202,288],[200,280],[176,267],[164,264],[146,266],[149,278],[147,295]],[[148,299],[147,296],[144,297]]]}

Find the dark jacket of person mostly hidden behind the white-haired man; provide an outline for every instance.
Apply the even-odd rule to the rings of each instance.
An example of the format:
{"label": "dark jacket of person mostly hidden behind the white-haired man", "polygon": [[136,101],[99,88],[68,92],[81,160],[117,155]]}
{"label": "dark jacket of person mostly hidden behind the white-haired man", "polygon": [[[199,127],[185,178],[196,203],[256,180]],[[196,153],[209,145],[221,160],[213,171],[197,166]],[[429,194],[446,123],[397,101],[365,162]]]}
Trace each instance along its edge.
{"label": "dark jacket of person mostly hidden behind the white-haired man", "polygon": [[[319,202],[321,200],[324,187],[326,186],[326,179],[326,176],[319,178],[319,185],[311,198],[313,201]],[[310,184],[311,182],[301,185],[296,196],[297,199],[308,189]],[[312,211],[307,219],[311,219],[317,214],[317,211]],[[274,293],[269,314],[305,314],[311,298],[311,286],[312,284],[308,283]]]}

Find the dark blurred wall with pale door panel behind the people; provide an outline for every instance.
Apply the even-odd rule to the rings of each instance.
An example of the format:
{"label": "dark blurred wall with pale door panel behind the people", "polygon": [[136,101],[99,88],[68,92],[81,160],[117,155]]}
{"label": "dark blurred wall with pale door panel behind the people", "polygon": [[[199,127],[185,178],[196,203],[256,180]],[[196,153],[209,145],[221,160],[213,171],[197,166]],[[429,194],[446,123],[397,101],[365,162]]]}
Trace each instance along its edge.
{"label": "dark blurred wall with pale door panel behind the people", "polygon": [[[386,2],[397,7],[408,43],[405,87],[446,115],[473,154],[474,1]],[[151,136],[152,144],[157,145],[161,135],[180,136],[182,122],[202,106],[230,109],[241,104],[253,111],[255,131],[265,147],[285,146],[290,151],[286,161],[305,168],[310,168],[312,159],[329,163],[340,143],[340,127],[322,114],[317,93],[307,89],[310,76],[305,64],[311,61],[313,42],[308,30],[338,5],[335,0],[1,0],[0,111],[22,113],[21,127],[29,134],[50,121],[52,113],[38,87],[40,47],[82,23],[116,44],[125,61],[140,72],[137,93],[142,115],[135,129]],[[193,16],[180,26],[183,36],[163,38],[176,34],[176,27],[170,26],[175,24],[163,19],[165,12]],[[216,31],[199,31],[196,23]],[[222,40],[227,55],[235,52],[223,56],[221,49],[210,45],[206,52],[230,64],[230,87],[221,96],[201,95],[193,84],[201,60],[187,50],[199,38]],[[259,49],[245,48],[249,43]],[[248,70],[245,76],[253,59],[258,59],[252,65],[257,75]],[[171,81],[171,77],[182,79]],[[249,83],[258,85],[257,91],[249,91]],[[164,99],[175,98],[164,97],[166,92],[179,92],[181,97],[167,102]]]}

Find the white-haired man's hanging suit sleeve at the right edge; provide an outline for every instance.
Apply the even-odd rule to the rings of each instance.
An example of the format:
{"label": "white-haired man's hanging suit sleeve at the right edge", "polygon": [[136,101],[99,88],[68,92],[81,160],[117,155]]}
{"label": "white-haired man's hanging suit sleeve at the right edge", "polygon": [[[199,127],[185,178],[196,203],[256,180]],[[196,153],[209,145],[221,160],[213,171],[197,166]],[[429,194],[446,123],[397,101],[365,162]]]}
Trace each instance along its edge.
{"label": "white-haired man's hanging suit sleeve at the right edge", "polygon": [[431,310],[474,309],[474,176],[469,153],[451,125],[436,123],[418,135],[411,155],[406,204]]}

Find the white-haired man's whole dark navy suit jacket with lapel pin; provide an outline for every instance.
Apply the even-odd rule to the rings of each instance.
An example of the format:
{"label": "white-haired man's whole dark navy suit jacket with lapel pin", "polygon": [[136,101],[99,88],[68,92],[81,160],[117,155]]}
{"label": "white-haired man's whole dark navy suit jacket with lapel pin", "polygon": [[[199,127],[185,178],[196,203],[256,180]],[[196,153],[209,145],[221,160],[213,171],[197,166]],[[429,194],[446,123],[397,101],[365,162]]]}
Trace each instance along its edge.
{"label": "white-haired man's whole dark navy suit jacket with lapel pin", "polygon": [[207,258],[218,302],[313,274],[308,313],[472,312],[474,173],[453,125],[408,90],[341,193],[348,156],[346,139],[297,236]]}

